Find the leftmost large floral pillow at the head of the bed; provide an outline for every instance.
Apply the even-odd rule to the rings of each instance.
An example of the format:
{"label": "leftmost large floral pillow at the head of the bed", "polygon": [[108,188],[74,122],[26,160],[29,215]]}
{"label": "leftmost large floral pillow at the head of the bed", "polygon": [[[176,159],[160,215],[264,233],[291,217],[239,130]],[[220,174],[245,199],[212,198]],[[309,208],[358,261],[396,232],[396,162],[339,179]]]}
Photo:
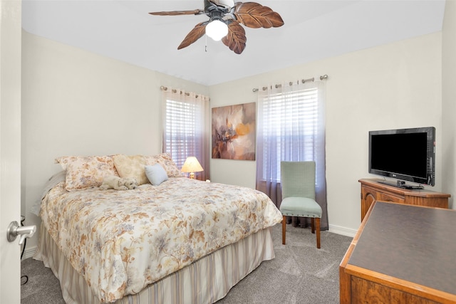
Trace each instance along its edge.
{"label": "leftmost large floral pillow at the head of the bed", "polygon": [[100,187],[106,175],[118,175],[111,156],[58,157],[56,162],[66,170],[65,189],[75,191]]}

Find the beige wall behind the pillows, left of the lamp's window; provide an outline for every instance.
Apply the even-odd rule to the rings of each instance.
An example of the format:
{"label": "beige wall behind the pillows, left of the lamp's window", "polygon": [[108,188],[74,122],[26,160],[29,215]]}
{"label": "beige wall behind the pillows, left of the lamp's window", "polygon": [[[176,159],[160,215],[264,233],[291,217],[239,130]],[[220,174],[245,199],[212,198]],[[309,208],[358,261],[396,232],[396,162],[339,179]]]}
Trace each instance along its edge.
{"label": "beige wall behind the pillows, left of the lamp's window", "polygon": [[[157,154],[162,151],[160,85],[209,89],[46,38],[22,33],[22,214],[63,155]],[[34,237],[28,248],[36,245]]]}

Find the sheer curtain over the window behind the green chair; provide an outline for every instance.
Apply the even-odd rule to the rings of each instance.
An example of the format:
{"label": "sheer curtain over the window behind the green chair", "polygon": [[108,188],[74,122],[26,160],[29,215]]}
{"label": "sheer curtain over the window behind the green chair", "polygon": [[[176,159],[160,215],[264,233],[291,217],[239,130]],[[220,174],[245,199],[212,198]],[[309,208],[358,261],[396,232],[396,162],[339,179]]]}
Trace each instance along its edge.
{"label": "sheer curtain over the window behind the green chair", "polygon": [[[321,229],[328,229],[324,93],[321,81],[269,85],[259,90],[257,189],[280,206],[280,162],[314,160],[316,201],[323,209]],[[297,221],[301,226],[310,223]]]}

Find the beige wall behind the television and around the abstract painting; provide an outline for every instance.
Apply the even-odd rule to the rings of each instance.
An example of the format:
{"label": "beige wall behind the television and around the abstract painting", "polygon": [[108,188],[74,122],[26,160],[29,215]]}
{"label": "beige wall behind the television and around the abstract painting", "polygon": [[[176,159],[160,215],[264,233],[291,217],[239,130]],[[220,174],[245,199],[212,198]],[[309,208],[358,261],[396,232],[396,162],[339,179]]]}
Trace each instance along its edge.
{"label": "beige wall behind the television and around the abstract painting", "polygon": [[[368,131],[434,126],[436,187],[442,189],[442,33],[432,33],[210,87],[212,107],[256,100],[252,88],[328,74],[326,181],[330,230],[361,223],[358,179],[368,174]],[[407,157],[407,152],[398,153]],[[254,187],[254,162],[212,159],[216,182]]]}

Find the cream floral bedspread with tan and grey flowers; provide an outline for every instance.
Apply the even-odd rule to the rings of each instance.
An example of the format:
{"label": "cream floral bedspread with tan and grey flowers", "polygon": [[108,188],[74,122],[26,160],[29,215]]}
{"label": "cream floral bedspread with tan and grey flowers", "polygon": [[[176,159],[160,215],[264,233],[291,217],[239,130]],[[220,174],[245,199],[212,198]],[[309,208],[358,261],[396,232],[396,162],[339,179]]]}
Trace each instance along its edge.
{"label": "cream floral bedspread with tan and grey flowers", "polygon": [[41,219],[100,301],[113,302],[282,216],[257,190],[173,177],[126,191],[66,192],[61,182]]}

